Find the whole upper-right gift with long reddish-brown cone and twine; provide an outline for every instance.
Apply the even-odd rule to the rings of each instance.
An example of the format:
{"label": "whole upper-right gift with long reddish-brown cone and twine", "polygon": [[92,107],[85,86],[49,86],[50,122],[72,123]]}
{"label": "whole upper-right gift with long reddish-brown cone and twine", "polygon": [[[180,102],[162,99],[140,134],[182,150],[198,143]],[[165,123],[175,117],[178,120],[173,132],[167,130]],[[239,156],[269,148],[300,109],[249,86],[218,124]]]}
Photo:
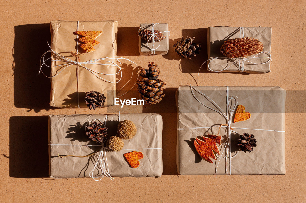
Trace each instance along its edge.
{"label": "whole upper-right gift with long reddish-brown cone and twine", "polygon": [[271,27],[208,27],[207,70],[269,73]]}

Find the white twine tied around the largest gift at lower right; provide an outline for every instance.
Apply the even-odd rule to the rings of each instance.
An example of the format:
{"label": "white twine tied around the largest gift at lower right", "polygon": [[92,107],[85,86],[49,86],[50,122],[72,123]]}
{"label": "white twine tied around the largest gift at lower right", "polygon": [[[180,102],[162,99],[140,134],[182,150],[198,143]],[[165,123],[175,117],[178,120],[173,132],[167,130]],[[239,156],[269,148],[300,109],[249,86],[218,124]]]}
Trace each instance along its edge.
{"label": "white twine tied around the largest gift at lower right", "polygon": [[[208,109],[211,109],[217,113],[219,113],[223,118],[225,118],[226,120],[226,139],[223,143],[221,143],[218,148],[219,151],[222,149],[223,147],[223,151],[222,154],[220,156],[216,155],[217,158],[219,158],[218,160],[218,164],[215,170],[215,175],[217,177],[217,169],[219,166],[219,162],[222,158],[225,158],[225,170],[226,170],[226,174],[227,175],[231,175],[232,173],[232,158],[235,157],[238,154],[238,151],[232,156],[231,155],[231,133],[237,133],[238,132],[232,130],[233,128],[237,128],[237,129],[248,129],[248,130],[263,130],[263,131],[274,131],[274,132],[285,132],[285,131],[281,131],[281,130],[265,130],[265,129],[252,129],[252,128],[239,128],[239,127],[232,127],[231,126],[231,122],[232,122],[232,118],[233,118],[233,112],[234,110],[237,108],[238,105],[238,97],[237,96],[229,96],[229,87],[226,86],[226,113],[219,107],[219,105],[214,102],[211,98],[209,98],[206,94],[203,94],[201,91],[199,91],[198,89],[196,89],[195,87],[192,87],[191,85],[189,86],[192,96],[196,99],[196,101],[200,102],[200,100],[198,98],[196,98],[196,95],[194,94],[193,90],[195,90],[197,93],[199,93],[200,95],[202,95],[203,97],[205,97],[209,102],[211,102],[217,109],[213,109],[205,104],[203,104],[202,102],[200,102],[200,104],[202,104],[203,106],[205,106]],[[202,129],[202,128],[213,128],[213,127],[219,127],[219,126],[201,126],[201,127],[186,127],[186,128],[177,128],[177,130],[187,130],[187,129]],[[223,126],[222,126],[223,127]],[[223,156],[223,153],[225,152],[225,155]],[[222,157],[223,156],[223,157]],[[227,171],[227,159],[229,159],[229,172]]]}

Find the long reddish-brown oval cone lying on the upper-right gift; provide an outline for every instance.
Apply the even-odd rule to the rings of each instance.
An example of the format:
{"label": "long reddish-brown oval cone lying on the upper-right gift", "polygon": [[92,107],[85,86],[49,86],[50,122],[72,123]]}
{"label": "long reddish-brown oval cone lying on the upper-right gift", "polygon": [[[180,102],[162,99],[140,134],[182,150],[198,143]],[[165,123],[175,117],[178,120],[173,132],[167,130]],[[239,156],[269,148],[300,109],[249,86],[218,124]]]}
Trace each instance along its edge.
{"label": "long reddish-brown oval cone lying on the upper-right gift", "polygon": [[263,51],[263,43],[253,37],[228,39],[221,46],[221,54],[234,59],[248,57]]}

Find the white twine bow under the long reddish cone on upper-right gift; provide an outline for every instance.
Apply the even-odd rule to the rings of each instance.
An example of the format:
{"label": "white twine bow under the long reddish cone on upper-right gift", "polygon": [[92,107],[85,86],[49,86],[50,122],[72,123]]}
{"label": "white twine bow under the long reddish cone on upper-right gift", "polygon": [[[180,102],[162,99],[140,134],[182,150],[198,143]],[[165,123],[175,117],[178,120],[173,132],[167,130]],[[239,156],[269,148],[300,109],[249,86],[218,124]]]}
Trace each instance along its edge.
{"label": "white twine bow under the long reddish cone on upper-right gift", "polygon": [[[240,39],[241,38],[244,38],[244,27],[239,27],[239,31],[240,31]],[[267,56],[264,56],[264,55],[267,55]],[[263,56],[259,56],[259,55],[263,55]],[[214,61],[214,60],[216,60],[216,59],[226,59],[226,60],[229,60],[229,61],[232,61],[233,62],[233,64],[232,65],[230,65],[230,66],[227,66],[227,67],[225,67],[225,68],[223,68],[223,69],[221,69],[221,70],[212,70],[211,68],[210,68],[210,63],[212,62],[212,61]],[[265,61],[265,62],[261,62],[261,63],[255,63],[255,62],[252,62],[252,59],[268,59],[267,61]],[[228,58],[228,57],[225,57],[225,56],[223,56],[223,57],[215,57],[215,58],[211,58],[211,59],[208,59],[208,60],[206,60],[202,65],[201,65],[201,67],[200,67],[200,69],[199,69],[199,72],[198,73],[200,73],[200,70],[201,70],[201,68],[202,68],[202,66],[207,62],[207,61],[209,61],[208,62],[208,65],[207,65],[207,67],[208,67],[208,70],[210,70],[210,71],[212,71],[212,72],[222,72],[222,71],[224,71],[224,70],[227,70],[227,69],[229,69],[231,66],[234,66],[234,65],[238,65],[238,72],[240,72],[240,73],[242,73],[242,72],[244,72],[244,66],[245,66],[245,62],[248,62],[248,63],[250,63],[250,65],[262,65],[262,64],[266,64],[266,63],[268,63],[269,61],[271,61],[272,59],[271,59],[271,53],[270,52],[260,52],[260,53],[258,53],[258,54],[256,54],[256,55],[254,55],[254,56],[252,56],[252,57],[242,57],[242,58],[234,58],[234,59],[231,59],[231,58]],[[198,80],[199,80],[199,77],[198,77]]]}

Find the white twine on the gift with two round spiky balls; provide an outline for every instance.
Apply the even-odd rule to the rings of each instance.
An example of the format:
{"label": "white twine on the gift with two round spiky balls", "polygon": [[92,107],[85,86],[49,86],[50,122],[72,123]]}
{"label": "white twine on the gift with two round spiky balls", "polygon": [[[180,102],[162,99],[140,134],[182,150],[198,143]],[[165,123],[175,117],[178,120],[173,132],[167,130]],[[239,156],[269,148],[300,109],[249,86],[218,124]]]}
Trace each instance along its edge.
{"label": "white twine on the gift with two round spiky balls", "polygon": [[[119,110],[119,109],[118,109]],[[107,115],[105,116],[105,121],[103,122],[100,119],[93,119],[92,121],[87,121],[88,125],[89,123],[92,123],[94,121],[98,120],[100,123],[103,123],[104,127],[106,127],[106,120],[107,120]],[[118,116],[118,125],[120,122],[120,110],[119,110],[119,116]],[[85,128],[86,130],[86,128]],[[117,131],[118,133],[118,131]],[[117,135],[117,134],[116,134]],[[57,145],[57,146],[101,146],[98,156],[98,161],[95,163],[94,168],[92,169],[91,172],[89,172],[89,176],[95,180],[95,181],[99,181],[102,180],[104,176],[108,177],[110,180],[114,180],[114,178],[110,175],[110,170],[108,167],[108,163],[107,163],[107,156],[106,156],[106,147],[105,147],[105,142],[107,139],[104,139],[103,143],[99,142],[100,144],[49,144],[51,146],[53,145]],[[122,150],[162,150],[162,148],[139,148],[139,149],[122,149]],[[101,171],[101,174],[99,176],[94,175],[94,171],[95,169],[98,170],[98,174],[99,174],[99,170]]]}

